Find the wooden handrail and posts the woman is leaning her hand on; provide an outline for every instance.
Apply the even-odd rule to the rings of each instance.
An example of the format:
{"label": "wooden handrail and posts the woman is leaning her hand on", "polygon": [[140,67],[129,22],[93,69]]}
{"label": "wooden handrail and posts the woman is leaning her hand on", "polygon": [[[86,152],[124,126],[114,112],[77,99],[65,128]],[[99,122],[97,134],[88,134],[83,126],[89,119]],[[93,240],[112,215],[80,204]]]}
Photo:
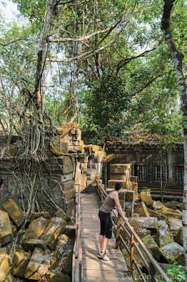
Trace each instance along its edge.
{"label": "wooden handrail and posts the woman is leaning her hand on", "polygon": [[[105,192],[105,190],[103,189],[102,185],[98,182],[98,180],[96,180],[97,184],[98,184],[98,196],[99,197],[103,197],[102,200],[104,200],[104,197],[107,197],[108,194],[107,192]],[[100,193],[101,192],[101,195]],[[115,226],[114,221],[112,221],[113,226]],[[118,247],[119,245],[119,238],[122,238],[122,235],[120,235],[120,227],[122,227],[124,229],[124,231],[127,233],[127,235],[129,236],[129,238],[131,238],[132,236],[134,236],[134,238],[137,240],[137,242],[139,243],[139,246],[141,247],[141,249],[143,250],[143,252],[146,254],[146,256],[148,257],[148,260],[150,262],[150,264],[148,264],[146,262],[146,259],[144,257],[144,255],[142,254],[141,250],[139,249],[138,245],[136,244],[136,242],[134,241],[134,246],[136,247],[136,250],[138,251],[139,255],[141,256],[141,258],[143,259],[143,262],[145,263],[146,269],[148,270],[148,278],[149,281],[157,281],[157,278],[155,278],[155,272],[157,271],[157,274],[159,274],[160,276],[162,276],[162,279],[165,282],[171,282],[171,280],[167,277],[167,275],[165,274],[165,271],[163,271],[163,269],[160,267],[160,265],[157,263],[157,261],[154,259],[154,257],[152,255],[150,255],[150,252],[148,251],[148,249],[146,248],[146,246],[143,244],[141,238],[138,237],[138,235],[136,234],[136,232],[134,231],[134,228],[130,225],[130,223],[128,221],[124,221],[124,223],[122,224],[120,222],[120,214],[118,213],[118,217],[117,217],[117,227],[115,227],[116,231],[116,247]],[[124,240],[122,240],[123,243],[125,244]],[[143,274],[141,272],[141,269],[138,267],[136,260],[134,259],[133,255],[132,255],[132,251],[134,251],[134,249],[131,248],[131,250],[129,250],[129,248],[127,247],[127,244],[125,244],[125,247],[127,250],[127,252],[129,253],[130,257],[131,257],[131,264],[134,263],[134,265],[136,266],[136,269],[138,270],[138,272],[141,274],[141,277],[143,277]],[[131,274],[132,274],[133,268],[131,266]],[[143,279],[143,281],[145,281],[145,279]]]}

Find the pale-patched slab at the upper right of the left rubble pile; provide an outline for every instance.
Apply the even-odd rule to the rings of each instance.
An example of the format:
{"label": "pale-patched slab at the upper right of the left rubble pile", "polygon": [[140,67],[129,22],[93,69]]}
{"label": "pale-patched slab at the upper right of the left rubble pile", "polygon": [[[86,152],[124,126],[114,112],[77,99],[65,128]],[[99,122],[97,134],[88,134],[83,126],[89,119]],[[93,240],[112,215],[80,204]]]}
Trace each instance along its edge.
{"label": "pale-patched slab at the upper right of the left rubble pile", "polygon": [[51,250],[55,250],[58,235],[65,231],[66,224],[67,222],[60,217],[53,217],[50,219],[49,225],[41,235],[40,239],[45,240],[46,245],[48,245]]}

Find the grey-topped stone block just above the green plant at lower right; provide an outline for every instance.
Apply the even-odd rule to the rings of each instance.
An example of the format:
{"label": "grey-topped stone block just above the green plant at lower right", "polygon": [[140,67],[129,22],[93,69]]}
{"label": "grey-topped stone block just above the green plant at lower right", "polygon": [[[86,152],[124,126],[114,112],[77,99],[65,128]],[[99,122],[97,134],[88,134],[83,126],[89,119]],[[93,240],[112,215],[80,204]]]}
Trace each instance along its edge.
{"label": "grey-topped stone block just above the green plant at lower right", "polygon": [[181,245],[176,242],[170,243],[164,247],[161,247],[162,257],[160,257],[160,262],[173,264],[174,261],[179,264],[184,262],[184,249]]}

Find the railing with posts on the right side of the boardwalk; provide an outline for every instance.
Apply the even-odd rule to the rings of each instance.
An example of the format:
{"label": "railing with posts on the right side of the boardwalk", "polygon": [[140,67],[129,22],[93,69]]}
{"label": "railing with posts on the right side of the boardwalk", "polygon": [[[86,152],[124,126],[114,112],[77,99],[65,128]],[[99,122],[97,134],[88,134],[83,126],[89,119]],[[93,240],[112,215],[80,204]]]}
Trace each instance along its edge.
{"label": "railing with posts on the right side of the boardwalk", "polygon": [[[98,180],[96,180],[96,182],[98,184],[97,194],[98,194],[98,197],[100,198],[101,203],[102,203],[103,200],[105,200],[105,197],[108,196],[108,194],[107,194],[107,192],[105,192],[105,190],[103,189],[102,185],[98,182]],[[113,214],[116,216],[115,213],[113,213]],[[117,217],[117,225],[115,225],[114,221],[112,220],[112,225],[114,226],[114,228],[116,230],[115,248],[118,248],[120,240],[121,240],[122,243],[124,244],[124,247],[126,248],[127,252],[129,253],[129,256],[130,256],[130,273],[131,273],[131,276],[133,276],[133,270],[134,270],[134,266],[135,266],[138,273],[140,274],[140,278],[142,279],[142,281],[146,282],[146,279],[143,276],[143,272],[141,271],[140,266],[138,265],[138,263],[136,262],[136,259],[134,258],[134,247],[136,247],[138,255],[143,260],[143,263],[145,264],[146,269],[148,271],[148,282],[157,282],[158,281],[157,278],[162,279],[165,282],[171,282],[171,280],[165,274],[165,271],[163,271],[163,269],[160,267],[160,265],[157,263],[157,261],[154,259],[154,257],[152,255],[150,255],[150,252],[148,251],[146,246],[143,244],[141,238],[139,238],[138,235],[136,234],[136,232],[134,231],[133,226],[131,226],[128,221],[124,221],[124,223],[122,223],[120,214],[118,212],[117,212],[117,214],[118,214],[116,216]],[[121,228],[129,236],[130,247],[128,247],[127,242],[124,241],[124,238],[122,238],[122,235],[120,234]],[[138,247],[137,243],[135,242],[135,239],[136,239],[137,243],[139,244],[139,247]],[[140,247],[141,247],[141,250],[143,250],[143,252],[140,250]],[[146,255],[147,259],[145,258],[145,255]],[[147,261],[149,261],[149,264],[148,264]]]}

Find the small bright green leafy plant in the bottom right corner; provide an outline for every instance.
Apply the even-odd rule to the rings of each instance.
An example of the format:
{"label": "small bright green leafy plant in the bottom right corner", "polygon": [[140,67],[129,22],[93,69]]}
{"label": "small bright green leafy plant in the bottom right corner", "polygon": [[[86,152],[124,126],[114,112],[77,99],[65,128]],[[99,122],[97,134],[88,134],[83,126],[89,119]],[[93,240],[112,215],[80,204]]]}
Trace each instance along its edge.
{"label": "small bright green leafy plant in the bottom right corner", "polygon": [[[171,265],[168,264],[169,269],[167,269],[167,274],[171,278],[171,282],[184,282],[186,281],[186,271],[183,271],[182,265],[176,265],[177,262],[174,262],[174,267],[171,268]],[[164,282],[158,280],[158,282]]]}

